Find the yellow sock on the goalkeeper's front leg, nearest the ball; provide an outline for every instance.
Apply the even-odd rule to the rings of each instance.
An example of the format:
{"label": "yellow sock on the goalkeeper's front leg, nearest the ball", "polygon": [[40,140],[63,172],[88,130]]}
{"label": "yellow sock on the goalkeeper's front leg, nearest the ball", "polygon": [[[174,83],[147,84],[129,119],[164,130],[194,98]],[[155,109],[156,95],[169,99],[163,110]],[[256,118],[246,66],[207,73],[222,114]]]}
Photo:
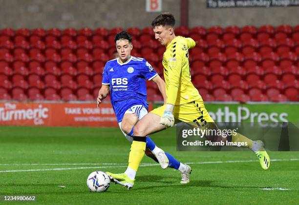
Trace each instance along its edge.
{"label": "yellow sock on the goalkeeper's front leg, nearest the ball", "polygon": [[144,156],[145,149],[146,142],[133,141],[129,154],[128,167],[134,169],[137,172],[139,164],[141,163],[141,160]]}

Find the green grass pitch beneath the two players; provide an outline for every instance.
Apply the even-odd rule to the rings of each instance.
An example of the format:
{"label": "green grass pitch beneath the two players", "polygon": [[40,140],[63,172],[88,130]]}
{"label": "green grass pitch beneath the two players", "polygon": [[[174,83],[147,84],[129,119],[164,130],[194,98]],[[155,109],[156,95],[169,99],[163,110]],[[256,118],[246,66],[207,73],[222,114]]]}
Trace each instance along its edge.
{"label": "green grass pitch beneath the two players", "polygon": [[36,195],[35,203],[43,205],[299,202],[298,152],[269,152],[273,161],[264,171],[250,151],[177,152],[174,128],[152,139],[181,162],[190,163],[190,184],[179,183],[178,171],[162,170],[144,157],[131,190],[111,184],[107,192],[89,192],[86,178],[92,171],[126,170],[130,143],[118,128],[1,126],[0,204],[10,203],[3,202],[3,195]]}

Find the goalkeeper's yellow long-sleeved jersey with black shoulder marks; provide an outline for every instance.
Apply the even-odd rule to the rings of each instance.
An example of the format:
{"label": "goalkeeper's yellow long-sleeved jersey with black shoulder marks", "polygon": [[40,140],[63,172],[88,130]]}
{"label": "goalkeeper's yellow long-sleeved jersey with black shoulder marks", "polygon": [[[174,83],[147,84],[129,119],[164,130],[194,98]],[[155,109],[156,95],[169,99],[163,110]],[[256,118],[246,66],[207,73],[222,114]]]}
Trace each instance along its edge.
{"label": "goalkeeper's yellow long-sleeved jersey with black shoulder marks", "polygon": [[191,38],[175,37],[163,55],[167,103],[179,105],[200,99],[191,82],[188,49],[195,46]]}

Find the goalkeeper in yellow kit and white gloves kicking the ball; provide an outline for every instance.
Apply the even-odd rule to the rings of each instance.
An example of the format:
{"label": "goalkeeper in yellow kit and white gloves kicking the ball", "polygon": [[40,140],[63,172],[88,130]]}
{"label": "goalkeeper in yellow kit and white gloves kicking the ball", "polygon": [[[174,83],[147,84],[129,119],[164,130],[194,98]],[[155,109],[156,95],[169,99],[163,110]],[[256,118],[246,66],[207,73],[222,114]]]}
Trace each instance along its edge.
{"label": "goalkeeper in yellow kit and white gloves kicking the ball", "polygon": [[[163,67],[167,103],[152,110],[134,126],[134,140],[131,144],[128,160],[128,167],[134,172],[137,172],[144,156],[146,136],[149,134],[171,127],[178,122],[190,123],[201,128],[217,128],[206,110],[198,90],[191,82],[188,50],[195,46],[195,41],[191,38],[175,36],[174,24],[175,19],[170,13],[160,14],[151,23],[155,39],[166,46],[163,55]],[[220,137],[216,140],[245,142],[246,147],[255,152],[262,168],[265,170],[269,168],[270,158],[261,141],[252,141],[239,133],[227,138]],[[189,182],[191,167],[186,164],[186,167],[182,168],[185,169],[185,178]],[[135,181],[135,179],[130,179],[124,173],[112,174],[107,172],[107,174],[110,175],[112,181],[115,180],[128,188],[131,188]]]}

